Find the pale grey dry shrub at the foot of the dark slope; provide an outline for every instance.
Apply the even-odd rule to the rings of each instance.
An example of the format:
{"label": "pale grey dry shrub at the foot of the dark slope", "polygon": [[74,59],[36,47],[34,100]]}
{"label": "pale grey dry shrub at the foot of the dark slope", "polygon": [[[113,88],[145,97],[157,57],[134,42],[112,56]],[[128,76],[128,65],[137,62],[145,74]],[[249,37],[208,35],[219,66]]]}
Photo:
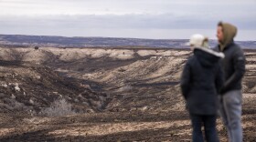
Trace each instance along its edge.
{"label": "pale grey dry shrub at the foot of the dark slope", "polygon": [[60,98],[55,100],[48,108],[43,109],[40,114],[47,117],[61,117],[74,115],[76,112],[72,110],[69,102]]}

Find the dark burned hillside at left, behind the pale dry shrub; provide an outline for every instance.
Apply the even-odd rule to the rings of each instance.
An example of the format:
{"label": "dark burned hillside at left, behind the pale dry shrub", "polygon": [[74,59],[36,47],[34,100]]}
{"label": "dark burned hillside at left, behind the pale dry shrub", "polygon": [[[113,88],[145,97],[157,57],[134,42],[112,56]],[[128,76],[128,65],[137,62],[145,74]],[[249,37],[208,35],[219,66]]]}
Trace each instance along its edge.
{"label": "dark burned hillside at left, behind the pale dry shrub", "polygon": [[90,86],[65,76],[59,76],[48,66],[24,61],[0,60],[1,113],[37,115],[55,100],[65,99],[75,112],[100,111],[106,95]]}

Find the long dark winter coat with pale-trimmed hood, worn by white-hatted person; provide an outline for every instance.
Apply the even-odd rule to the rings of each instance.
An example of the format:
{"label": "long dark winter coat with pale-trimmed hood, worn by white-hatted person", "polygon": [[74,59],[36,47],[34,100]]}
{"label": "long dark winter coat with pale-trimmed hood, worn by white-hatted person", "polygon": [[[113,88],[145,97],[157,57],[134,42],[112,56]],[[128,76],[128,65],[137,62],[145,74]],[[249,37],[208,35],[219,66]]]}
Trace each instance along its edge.
{"label": "long dark winter coat with pale-trimmed hood, worn by white-hatted person", "polygon": [[187,101],[189,113],[216,115],[218,92],[223,85],[219,59],[223,54],[208,48],[195,48],[194,56],[187,60],[181,76],[181,91]]}

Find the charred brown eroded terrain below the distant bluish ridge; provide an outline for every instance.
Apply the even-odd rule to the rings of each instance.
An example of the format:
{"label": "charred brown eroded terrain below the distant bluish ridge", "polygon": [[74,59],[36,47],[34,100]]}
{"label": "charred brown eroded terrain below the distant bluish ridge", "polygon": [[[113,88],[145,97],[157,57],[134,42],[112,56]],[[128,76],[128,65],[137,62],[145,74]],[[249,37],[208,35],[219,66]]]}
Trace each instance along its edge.
{"label": "charred brown eroded terrain below the distant bluish ridge", "polygon": [[[191,141],[179,88],[190,54],[143,47],[2,47],[0,141]],[[244,141],[252,142],[256,51],[245,55],[242,127]],[[220,118],[218,130],[227,141]]]}

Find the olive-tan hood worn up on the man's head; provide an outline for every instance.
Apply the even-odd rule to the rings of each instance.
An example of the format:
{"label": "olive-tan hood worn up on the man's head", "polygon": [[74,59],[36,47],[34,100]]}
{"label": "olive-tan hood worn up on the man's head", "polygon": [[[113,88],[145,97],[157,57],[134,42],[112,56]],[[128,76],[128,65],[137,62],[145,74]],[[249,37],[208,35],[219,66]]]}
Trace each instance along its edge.
{"label": "olive-tan hood worn up on the man's head", "polygon": [[223,41],[219,43],[221,51],[224,50],[231,42],[233,42],[234,37],[237,35],[237,27],[229,23],[221,23],[223,30]]}

